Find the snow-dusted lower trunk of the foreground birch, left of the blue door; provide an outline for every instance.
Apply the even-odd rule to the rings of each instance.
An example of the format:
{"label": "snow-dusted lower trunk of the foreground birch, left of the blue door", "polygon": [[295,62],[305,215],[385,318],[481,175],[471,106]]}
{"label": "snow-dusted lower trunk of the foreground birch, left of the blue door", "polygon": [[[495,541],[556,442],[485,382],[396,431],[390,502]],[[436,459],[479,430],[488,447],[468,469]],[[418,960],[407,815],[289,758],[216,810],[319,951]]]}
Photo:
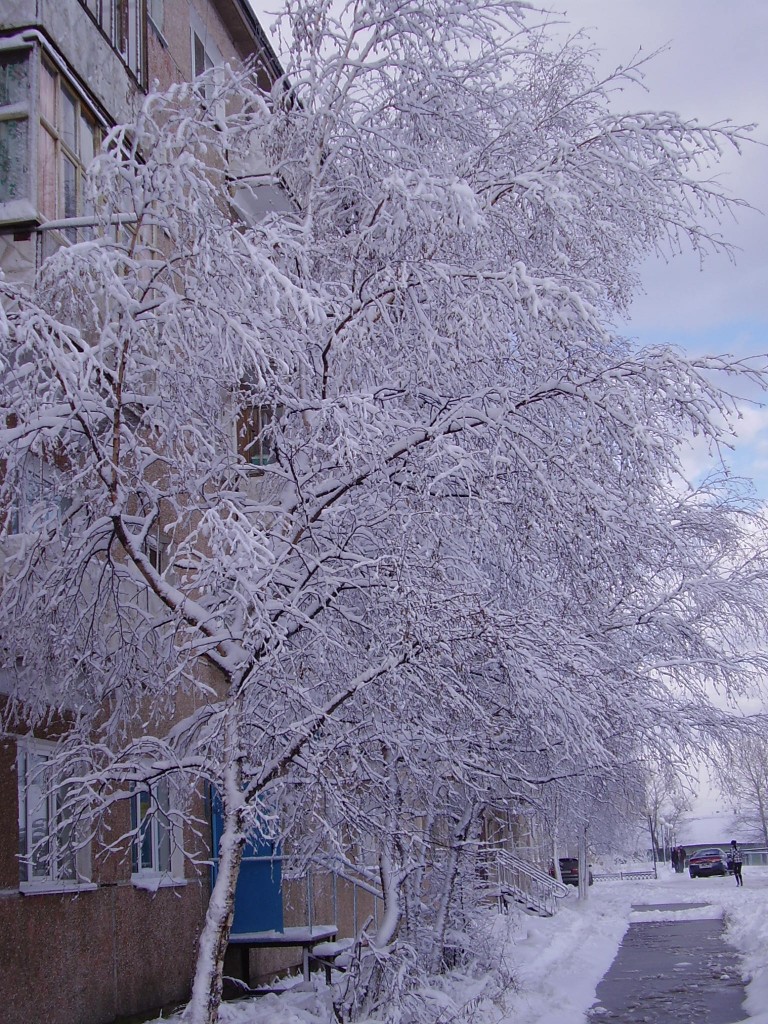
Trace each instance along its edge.
{"label": "snow-dusted lower trunk of the foreground birch, left of the blue door", "polygon": [[183,1015],[184,1024],[217,1024],[219,1019],[224,954],[234,915],[234,889],[246,843],[240,806],[237,799],[232,799],[232,795],[240,793],[239,779],[239,767],[227,766],[222,794],[223,828],[218,849],[218,873],[200,935],[195,981],[191,998]]}

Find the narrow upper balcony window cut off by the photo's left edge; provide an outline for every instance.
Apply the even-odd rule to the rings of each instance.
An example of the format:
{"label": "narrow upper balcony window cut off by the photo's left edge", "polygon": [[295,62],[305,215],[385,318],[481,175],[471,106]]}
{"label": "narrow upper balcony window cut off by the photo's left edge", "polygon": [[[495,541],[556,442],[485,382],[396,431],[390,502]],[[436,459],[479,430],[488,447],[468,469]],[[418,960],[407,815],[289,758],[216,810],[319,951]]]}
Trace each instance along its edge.
{"label": "narrow upper balcony window cut off by the photo's left edge", "polygon": [[0,51],[0,204],[31,198],[30,52]]}

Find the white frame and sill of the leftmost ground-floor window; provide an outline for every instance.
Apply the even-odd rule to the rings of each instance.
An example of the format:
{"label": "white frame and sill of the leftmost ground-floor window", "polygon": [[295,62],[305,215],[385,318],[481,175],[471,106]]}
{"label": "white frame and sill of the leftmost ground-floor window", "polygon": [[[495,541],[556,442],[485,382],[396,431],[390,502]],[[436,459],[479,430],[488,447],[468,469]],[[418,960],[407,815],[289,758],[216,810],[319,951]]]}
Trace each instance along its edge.
{"label": "white frame and sill of the leftmost ground-floor window", "polygon": [[[16,774],[18,790],[18,870],[19,891],[26,895],[35,893],[82,892],[96,888],[91,882],[90,843],[76,848],[72,855],[74,878],[61,866],[58,855],[58,826],[56,817],[56,787],[43,776],[45,769],[36,762],[49,762],[56,744],[33,736],[20,736],[16,740]],[[41,783],[43,783],[41,785]],[[46,842],[48,851],[43,870],[36,870],[33,859],[35,820],[40,820],[39,811],[44,809]],[[69,855],[68,855],[69,856]],[[38,865],[40,866],[40,865]]]}

